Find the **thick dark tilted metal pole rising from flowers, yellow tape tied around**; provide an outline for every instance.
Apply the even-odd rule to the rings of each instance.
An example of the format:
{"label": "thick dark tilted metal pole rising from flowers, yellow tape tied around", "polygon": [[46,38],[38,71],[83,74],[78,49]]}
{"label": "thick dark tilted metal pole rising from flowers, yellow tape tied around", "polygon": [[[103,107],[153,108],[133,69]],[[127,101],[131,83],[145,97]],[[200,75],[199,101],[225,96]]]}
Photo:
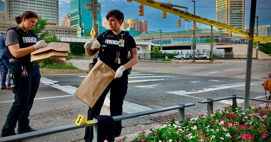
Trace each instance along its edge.
{"label": "thick dark tilted metal pole rising from flowers, yellow tape tied around", "polygon": [[[256,2],[257,0],[251,0],[249,34],[252,36],[254,35]],[[249,40],[249,45],[247,47],[247,68],[246,68],[246,84],[245,84],[245,98],[244,98],[244,112],[245,113],[246,113],[245,110],[249,109],[252,49],[253,49],[253,38]]]}

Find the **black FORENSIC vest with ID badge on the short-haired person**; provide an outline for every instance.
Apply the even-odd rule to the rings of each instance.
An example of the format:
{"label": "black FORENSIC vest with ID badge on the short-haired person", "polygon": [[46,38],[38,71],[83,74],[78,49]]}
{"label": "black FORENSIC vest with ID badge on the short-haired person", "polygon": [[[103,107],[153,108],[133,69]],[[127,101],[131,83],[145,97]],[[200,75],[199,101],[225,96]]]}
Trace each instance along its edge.
{"label": "black FORENSIC vest with ID badge on the short-haired person", "polygon": [[[123,36],[121,36],[123,34]],[[129,35],[129,34],[128,34]],[[103,35],[104,39],[101,42],[101,47],[99,49],[98,57],[102,62],[111,67],[116,71],[121,65],[129,62],[128,59],[128,48],[127,48],[127,34],[121,31],[119,35],[113,34],[111,30],[107,30]],[[119,46],[120,39],[124,39],[124,47]],[[117,52],[120,52],[119,58],[121,60],[120,64],[115,63],[117,58]],[[125,70],[126,71],[126,70]]]}

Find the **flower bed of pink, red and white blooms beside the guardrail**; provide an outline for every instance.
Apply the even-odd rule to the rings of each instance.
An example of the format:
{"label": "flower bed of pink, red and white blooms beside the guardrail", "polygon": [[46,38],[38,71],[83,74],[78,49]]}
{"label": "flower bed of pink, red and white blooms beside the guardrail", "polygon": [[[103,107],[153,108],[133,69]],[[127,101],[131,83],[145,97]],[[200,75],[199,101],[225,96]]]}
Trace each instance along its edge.
{"label": "flower bed of pink, red and white blooms beside the guardrail", "polygon": [[[135,142],[196,142],[196,141],[236,141],[236,142],[270,142],[271,140],[271,109],[262,109],[260,106],[246,110],[233,105],[218,108],[217,111],[204,116],[199,115],[193,120],[190,116],[177,127],[175,118],[164,125],[151,128],[146,134],[144,129],[138,133]],[[120,140],[117,140],[120,141]],[[121,140],[125,141],[125,139]]]}

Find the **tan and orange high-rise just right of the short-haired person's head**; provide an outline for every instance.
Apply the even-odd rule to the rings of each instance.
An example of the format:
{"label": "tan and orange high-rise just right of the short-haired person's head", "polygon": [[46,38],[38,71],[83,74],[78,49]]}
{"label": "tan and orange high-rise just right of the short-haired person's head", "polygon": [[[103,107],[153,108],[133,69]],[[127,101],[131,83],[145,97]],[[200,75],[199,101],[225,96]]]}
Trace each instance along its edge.
{"label": "tan and orange high-rise just right of the short-haired person's head", "polygon": [[140,31],[140,33],[144,33],[145,31],[148,31],[148,21],[146,20],[138,20],[135,19],[128,19],[124,20],[126,23],[129,24],[129,27],[134,28],[136,31]]}

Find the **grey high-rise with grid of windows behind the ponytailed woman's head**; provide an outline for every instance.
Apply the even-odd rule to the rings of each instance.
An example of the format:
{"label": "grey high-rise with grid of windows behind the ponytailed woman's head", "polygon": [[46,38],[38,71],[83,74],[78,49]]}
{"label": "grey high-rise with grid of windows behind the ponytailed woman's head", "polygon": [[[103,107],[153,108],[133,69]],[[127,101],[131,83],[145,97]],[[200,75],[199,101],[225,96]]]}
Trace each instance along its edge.
{"label": "grey high-rise with grid of windows behind the ponytailed woman's head", "polygon": [[43,19],[59,23],[59,0],[5,0],[5,21],[16,21],[13,18],[24,11],[34,11]]}

